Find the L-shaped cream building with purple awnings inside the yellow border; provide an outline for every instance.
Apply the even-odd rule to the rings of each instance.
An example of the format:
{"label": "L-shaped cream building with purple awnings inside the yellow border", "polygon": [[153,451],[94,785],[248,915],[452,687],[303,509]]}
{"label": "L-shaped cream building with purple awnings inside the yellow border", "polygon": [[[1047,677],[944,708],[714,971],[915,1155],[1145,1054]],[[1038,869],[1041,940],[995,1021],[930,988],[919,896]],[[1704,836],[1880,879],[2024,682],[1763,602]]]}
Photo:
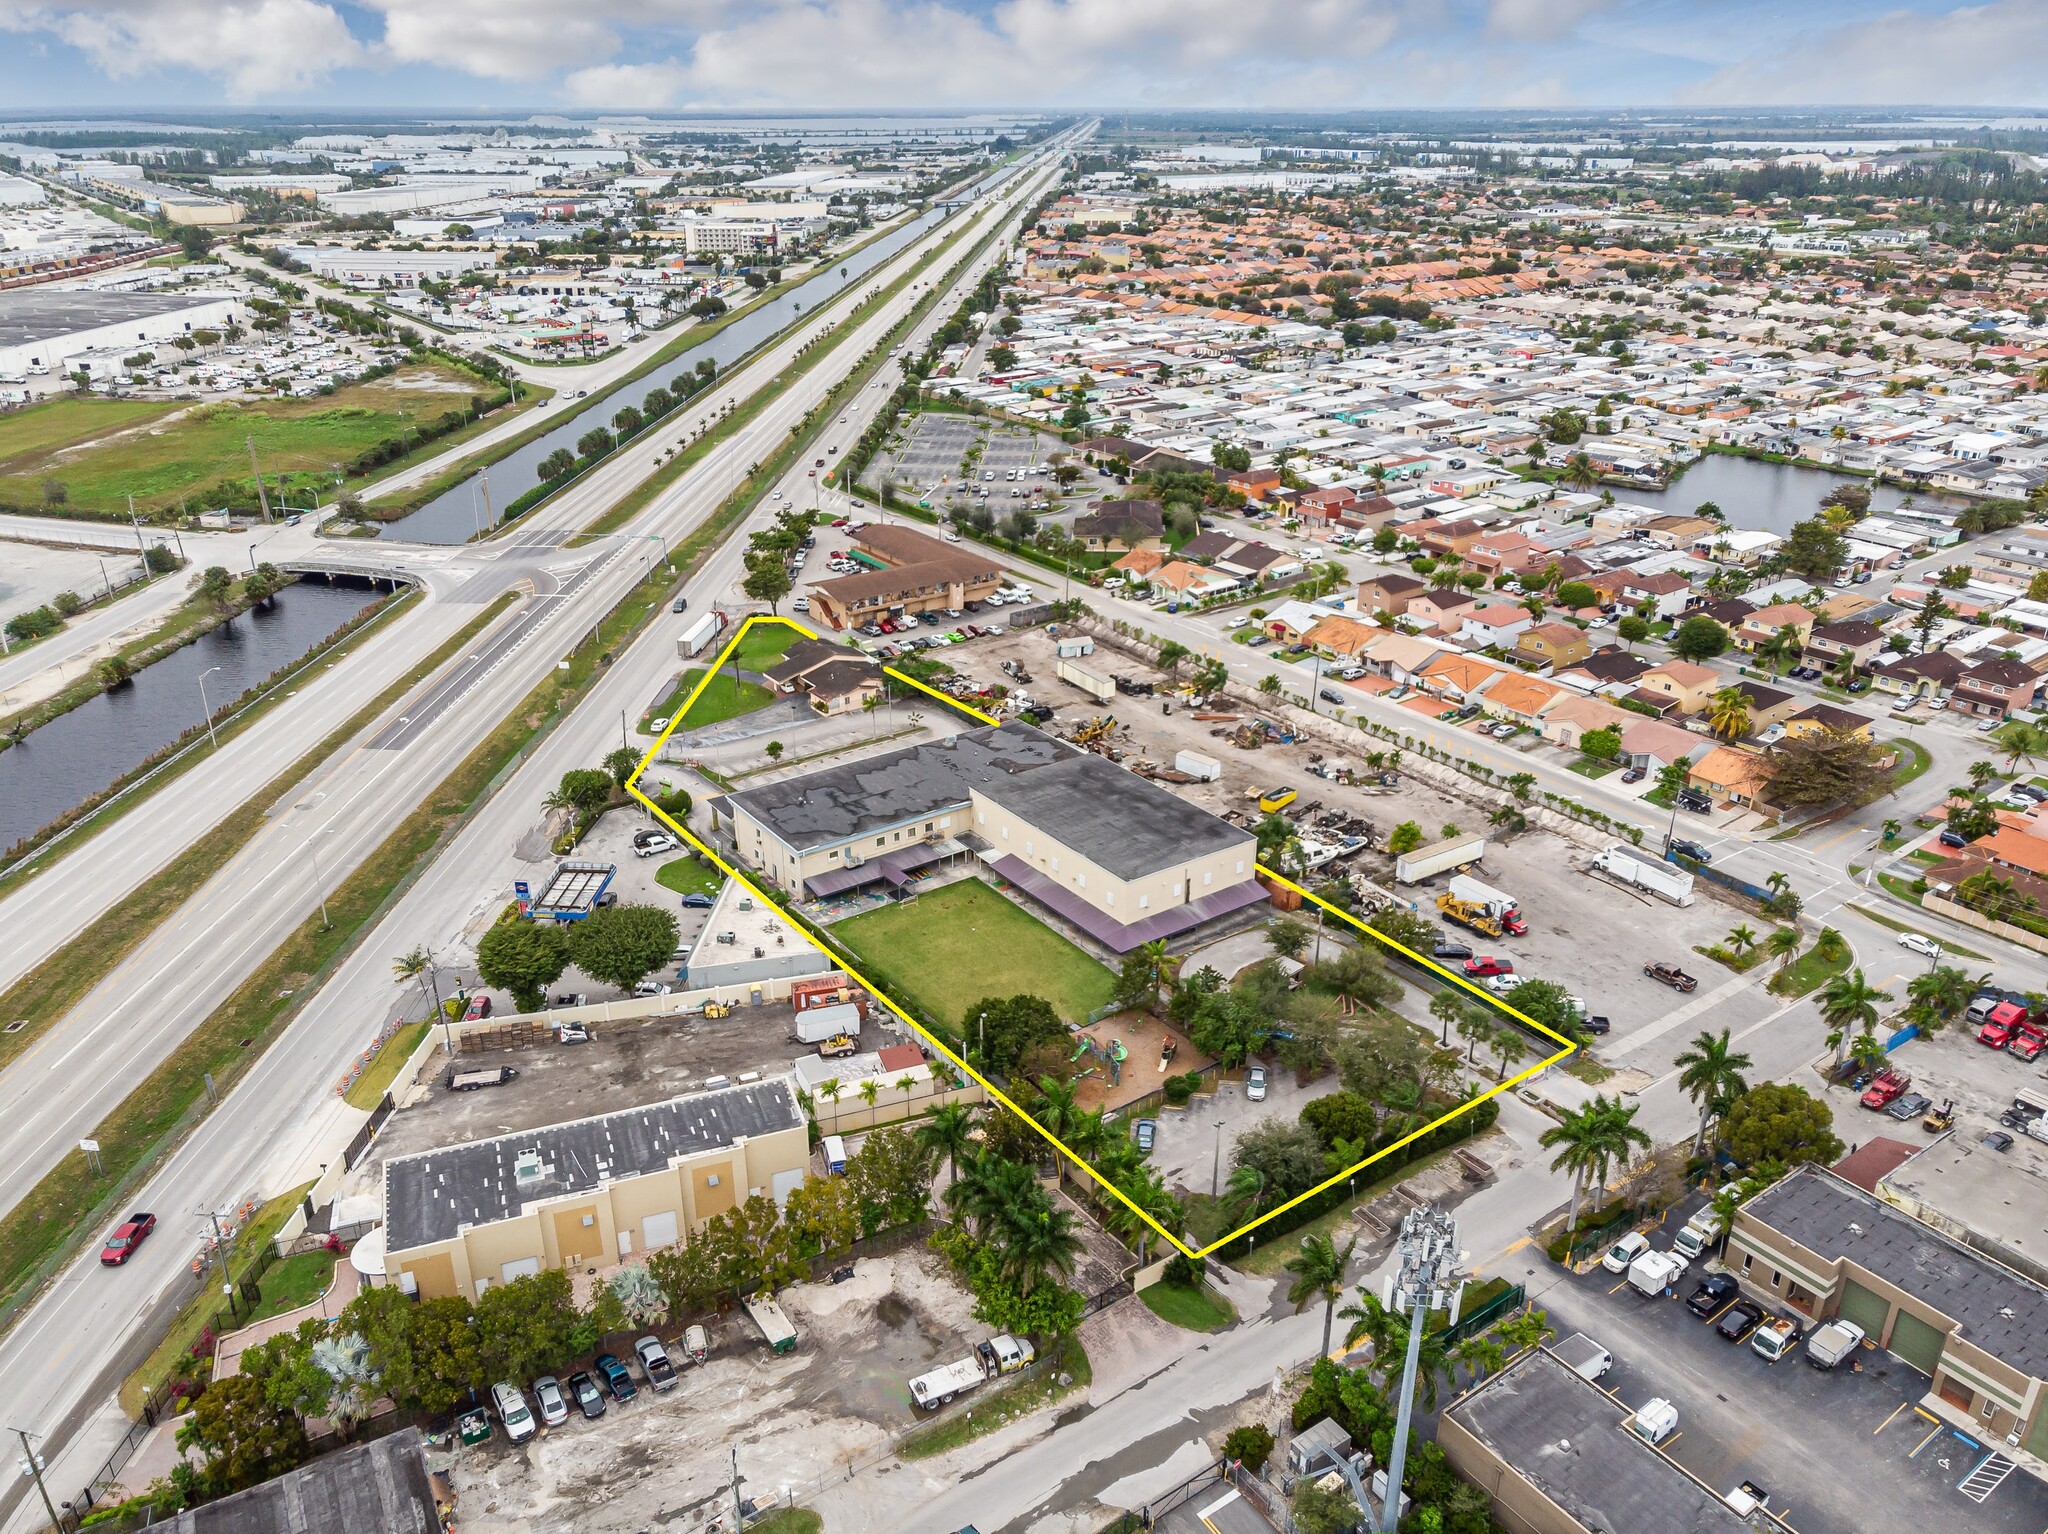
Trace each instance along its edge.
{"label": "L-shaped cream building with purple awnings inside the yellow border", "polygon": [[979,860],[1128,952],[1257,905],[1257,842],[1024,723],[844,762],[709,803],[737,856],[809,899]]}

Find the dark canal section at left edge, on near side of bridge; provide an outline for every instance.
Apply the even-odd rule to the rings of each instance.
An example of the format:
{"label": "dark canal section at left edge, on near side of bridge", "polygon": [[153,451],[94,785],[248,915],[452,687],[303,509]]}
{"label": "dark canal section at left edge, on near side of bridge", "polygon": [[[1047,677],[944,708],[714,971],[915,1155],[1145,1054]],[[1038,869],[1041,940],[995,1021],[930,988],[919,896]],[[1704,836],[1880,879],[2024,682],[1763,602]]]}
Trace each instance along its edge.
{"label": "dark canal section at left edge, on near side of bridge", "polygon": [[12,848],[133,772],[186,729],[205,723],[272,672],[375,602],[367,584],[303,580],[199,641],[145,666],[113,692],[82,702],[0,752],[0,848]]}

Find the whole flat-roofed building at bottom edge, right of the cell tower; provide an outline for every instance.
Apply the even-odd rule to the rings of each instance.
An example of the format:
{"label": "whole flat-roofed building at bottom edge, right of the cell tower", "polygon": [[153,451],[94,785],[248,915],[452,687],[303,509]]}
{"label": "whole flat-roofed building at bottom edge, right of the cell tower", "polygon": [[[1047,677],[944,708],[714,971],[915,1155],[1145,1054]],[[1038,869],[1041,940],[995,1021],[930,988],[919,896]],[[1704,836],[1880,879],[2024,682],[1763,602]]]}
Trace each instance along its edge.
{"label": "whole flat-roofed building at bottom edge, right of the cell tower", "polygon": [[1509,1534],[1755,1534],[1628,1417],[1548,1348],[1532,1348],[1452,1401],[1436,1442]]}

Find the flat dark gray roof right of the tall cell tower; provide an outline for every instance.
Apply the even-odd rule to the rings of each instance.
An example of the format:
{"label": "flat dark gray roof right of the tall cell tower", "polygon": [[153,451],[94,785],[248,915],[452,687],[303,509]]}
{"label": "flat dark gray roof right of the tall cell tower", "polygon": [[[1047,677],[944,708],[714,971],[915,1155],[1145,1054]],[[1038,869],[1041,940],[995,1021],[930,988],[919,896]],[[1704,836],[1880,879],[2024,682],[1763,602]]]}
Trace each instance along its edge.
{"label": "flat dark gray roof right of the tall cell tower", "polygon": [[1628,1411],[1538,1348],[1444,1415],[1585,1528],[1755,1534],[1718,1493],[1622,1428]]}

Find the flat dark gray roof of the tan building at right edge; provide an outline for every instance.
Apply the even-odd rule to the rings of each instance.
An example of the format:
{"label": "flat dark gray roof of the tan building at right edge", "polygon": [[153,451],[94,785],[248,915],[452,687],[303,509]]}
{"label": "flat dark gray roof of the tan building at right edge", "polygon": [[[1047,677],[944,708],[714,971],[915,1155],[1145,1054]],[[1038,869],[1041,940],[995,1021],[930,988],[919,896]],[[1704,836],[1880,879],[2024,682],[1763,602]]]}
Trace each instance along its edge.
{"label": "flat dark gray roof of the tan building at right edge", "polygon": [[1819,1167],[1800,1167],[1743,1208],[1808,1251],[1903,1288],[1956,1321],[1964,1341],[2048,1380],[2048,1288]]}

